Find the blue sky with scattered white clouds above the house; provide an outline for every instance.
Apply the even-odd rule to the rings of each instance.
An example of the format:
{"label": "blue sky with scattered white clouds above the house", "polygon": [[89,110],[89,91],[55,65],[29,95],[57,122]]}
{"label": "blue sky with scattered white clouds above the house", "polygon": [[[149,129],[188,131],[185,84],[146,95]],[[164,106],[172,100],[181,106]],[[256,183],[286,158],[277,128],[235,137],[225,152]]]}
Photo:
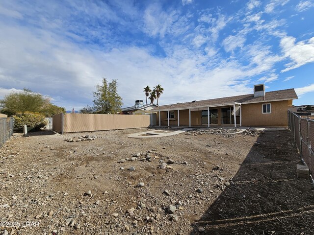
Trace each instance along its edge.
{"label": "blue sky with scattered white clouds above the house", "polygon": [[314,105],[314,0],[2,0],[0,98],[31,89],[91,105],[102,77],[124,106],[295,88]]}

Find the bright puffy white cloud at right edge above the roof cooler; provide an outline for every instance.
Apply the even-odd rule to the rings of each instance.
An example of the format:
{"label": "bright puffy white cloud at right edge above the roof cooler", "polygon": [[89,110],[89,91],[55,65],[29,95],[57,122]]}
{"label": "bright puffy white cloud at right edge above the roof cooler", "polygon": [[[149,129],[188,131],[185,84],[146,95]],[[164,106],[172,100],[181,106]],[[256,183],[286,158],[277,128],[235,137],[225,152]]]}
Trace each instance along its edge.
{"label": "bright puffy white cloud at right edge above the roof cooler", "polygon": [[314,62],[314,37],[296,43],[296,39],[291,36],[285,36],[280,41],[280,47],[285,56],[291,60],[286,64],[286,72],[301,67],[302,65]]}

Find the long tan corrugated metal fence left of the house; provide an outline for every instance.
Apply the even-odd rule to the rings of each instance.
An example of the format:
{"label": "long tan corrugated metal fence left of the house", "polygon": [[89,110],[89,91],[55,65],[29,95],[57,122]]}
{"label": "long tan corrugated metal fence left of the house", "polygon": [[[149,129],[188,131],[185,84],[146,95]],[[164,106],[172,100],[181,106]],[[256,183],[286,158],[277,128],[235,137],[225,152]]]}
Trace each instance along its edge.
{"label": "long tan corrugated metal fence left of the house", "polygon": [[52,128],[59,133],[144,128],[150,115],[59,114],[52,118]]}

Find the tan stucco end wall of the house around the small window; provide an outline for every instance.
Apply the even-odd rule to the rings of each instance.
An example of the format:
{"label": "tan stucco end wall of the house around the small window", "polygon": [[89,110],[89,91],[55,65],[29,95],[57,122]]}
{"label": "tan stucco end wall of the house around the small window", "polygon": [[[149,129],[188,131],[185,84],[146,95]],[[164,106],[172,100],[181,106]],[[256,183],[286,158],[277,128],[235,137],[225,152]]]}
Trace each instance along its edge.
{"label": "tan stucco end wall of the house around the small window", "polygon": [[[262,104],[271,104],[271,113],[262,113]],[[290,100],[242,104],[242,126],[288,126]]]}

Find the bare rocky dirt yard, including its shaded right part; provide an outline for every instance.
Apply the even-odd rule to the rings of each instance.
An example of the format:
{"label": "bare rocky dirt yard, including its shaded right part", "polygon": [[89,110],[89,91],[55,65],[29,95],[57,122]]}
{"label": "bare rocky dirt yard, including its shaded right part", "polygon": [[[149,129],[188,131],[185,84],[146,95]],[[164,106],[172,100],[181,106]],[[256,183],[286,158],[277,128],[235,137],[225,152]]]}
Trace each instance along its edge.
{"label": "bare rocky dirt yard, including its shaded right part", "polygon": [[314,234],[288,130],[127,137],[146,130],[15,134],[0,149],[0,234]]}

